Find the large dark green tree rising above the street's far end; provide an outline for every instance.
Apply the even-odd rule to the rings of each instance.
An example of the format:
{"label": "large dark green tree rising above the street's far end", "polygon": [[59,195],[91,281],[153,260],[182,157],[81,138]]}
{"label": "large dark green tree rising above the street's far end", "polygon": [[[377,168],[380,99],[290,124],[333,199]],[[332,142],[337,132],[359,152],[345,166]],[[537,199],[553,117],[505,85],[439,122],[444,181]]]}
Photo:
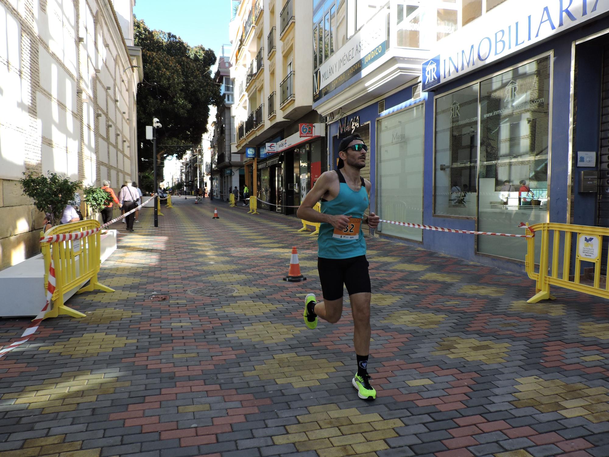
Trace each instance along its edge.
{"label": "large dark green tree rising above the street's far end", "polygon": [[[139,170],[152,170],[152,141],[146,126],[160,119],[157,129],[158,180],[163,180],[167,155],[180,159],[192,144],[200,144],[207,132],[209,105],[220,105],[220,86],[211,67],[216,54],[203,46],[188,46],[180,37],[163,30],[150,30],[143,20],[133,18],[135,45],[142,48],[144,81],[138,85]],[[170,146],[161,146],[170,145]]]}

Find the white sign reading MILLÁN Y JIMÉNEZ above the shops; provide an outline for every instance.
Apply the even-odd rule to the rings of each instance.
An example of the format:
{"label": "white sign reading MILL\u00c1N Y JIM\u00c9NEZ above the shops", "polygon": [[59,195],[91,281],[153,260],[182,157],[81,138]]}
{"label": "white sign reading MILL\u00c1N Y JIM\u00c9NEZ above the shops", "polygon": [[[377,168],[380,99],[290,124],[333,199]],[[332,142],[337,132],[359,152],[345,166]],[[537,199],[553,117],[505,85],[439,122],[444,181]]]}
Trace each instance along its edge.
{"label": "white sign reading MILL\u00c1N Y JIM\u00c9NEZ above the shops", "polygon": [[387,9],[382,9],[313,73],[313,101],[360,73],[387,51]]}

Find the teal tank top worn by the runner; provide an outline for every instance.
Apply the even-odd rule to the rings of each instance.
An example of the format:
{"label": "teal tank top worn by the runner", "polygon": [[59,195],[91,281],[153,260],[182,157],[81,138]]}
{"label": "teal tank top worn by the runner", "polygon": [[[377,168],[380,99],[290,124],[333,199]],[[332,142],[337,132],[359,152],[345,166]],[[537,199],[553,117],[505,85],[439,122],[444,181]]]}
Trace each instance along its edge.
{"label": "teal tank top worn by the runner", "polygon": [[364,185],[359,191],[353,191],[345,182],[345,177],[339,169],[336,170],[339,175],[340,190],[338,196],[329,202],[322,199],[322,213],[345,214],[351,218],[349,226],[342,231],[335,230],[331,224],[322,222],[319,227],[319,236],[317,237],[317,256],[322,258],[350,258],[366,255],[366,242],[364,240],[364,232],[362,231],[362,223],[364,222],[364,211],[368,208],[370,201],[368,193]]}

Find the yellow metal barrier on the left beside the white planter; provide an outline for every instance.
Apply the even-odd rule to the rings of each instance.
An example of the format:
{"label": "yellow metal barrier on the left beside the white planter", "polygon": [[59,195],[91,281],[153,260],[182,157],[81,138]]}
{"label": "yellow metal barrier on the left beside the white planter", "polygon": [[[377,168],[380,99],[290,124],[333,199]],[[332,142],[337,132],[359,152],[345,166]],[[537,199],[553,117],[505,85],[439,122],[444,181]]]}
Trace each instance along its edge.
{"label": "yellow metal barrier on the left beside the white planter", "polygon": [[[57,225],[51,227],[44,235],[61,235],[63,233],[85,232],[99,227],[99,222],[94,219],[85,219],[79,222]],[[80,289],[81,292],[94,290],[114,292],[107,286],[97,281],[97,272],[101,264],[101,232],[91,236],[85,236],[75,241],[56,241],[55,243],[41,243],[44,256],[44,290],[48,289],[49,265],[51,257],[55,269],[55,292],[51,297],[53,307],[44,315],[57,317],[60,315],[72,317],[85,317],[85,314],[72,310],[63,303],[63,294],[78,287],[89,280],[89,284]]]}

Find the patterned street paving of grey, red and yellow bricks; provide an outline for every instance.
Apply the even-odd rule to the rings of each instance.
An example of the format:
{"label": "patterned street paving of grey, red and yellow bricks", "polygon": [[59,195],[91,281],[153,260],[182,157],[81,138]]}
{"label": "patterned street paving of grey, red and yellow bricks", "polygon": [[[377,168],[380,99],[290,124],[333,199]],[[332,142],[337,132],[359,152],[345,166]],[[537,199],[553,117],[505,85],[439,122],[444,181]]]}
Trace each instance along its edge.
{"label": "patterned street paving of grey, red and yellow bricks", "polygon": [[[116,292],[72,297],[86,317],[47,319],[0,360],[0,456],[609,456],[605,300],[529,305],[526,277],[367,238],[365,402],[348,299],[336,325],[303,323],[315,236],[194,201],[158,228],[152,208],[135,233],[114,224],[99,280]],[[292,246],[305,282],[282,280]],[[28,323],[0,320],[0,344]]]}

